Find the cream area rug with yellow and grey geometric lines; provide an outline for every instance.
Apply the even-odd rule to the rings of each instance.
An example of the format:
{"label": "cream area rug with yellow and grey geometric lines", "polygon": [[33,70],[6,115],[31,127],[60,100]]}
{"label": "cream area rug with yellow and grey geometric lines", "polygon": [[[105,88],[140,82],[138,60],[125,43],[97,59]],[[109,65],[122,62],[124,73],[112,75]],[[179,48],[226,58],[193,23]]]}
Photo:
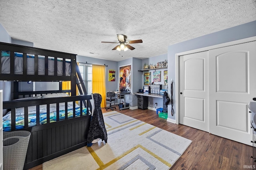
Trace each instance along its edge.
{"label": "cream area rug with yellow and grey geometric lines", "polygon": [[169,170],[192,142],[117,111],[103,113],[102,140],[48,162],[44,170]]}

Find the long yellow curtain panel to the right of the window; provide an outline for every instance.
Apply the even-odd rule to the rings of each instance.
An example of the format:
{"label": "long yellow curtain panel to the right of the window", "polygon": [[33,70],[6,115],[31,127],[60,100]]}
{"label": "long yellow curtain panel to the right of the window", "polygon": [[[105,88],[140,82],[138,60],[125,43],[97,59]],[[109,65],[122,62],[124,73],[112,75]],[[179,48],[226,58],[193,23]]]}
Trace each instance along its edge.
{"label": "long yellow curtain panel to the right of the window", "polygon": [[102,96],[100,107],[106,107],[106,83],[104,65],[92,65],[92,93],[99,93]]}

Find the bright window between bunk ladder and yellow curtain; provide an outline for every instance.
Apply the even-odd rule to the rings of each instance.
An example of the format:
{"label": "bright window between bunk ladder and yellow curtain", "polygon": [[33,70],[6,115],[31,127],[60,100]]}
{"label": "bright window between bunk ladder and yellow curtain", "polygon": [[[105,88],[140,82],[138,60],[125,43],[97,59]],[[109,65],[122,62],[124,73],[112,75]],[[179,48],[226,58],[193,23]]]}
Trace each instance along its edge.
{"label": "bright window between bunk ladder and yellow curtain", "polygon": [[92,93],[92,64],[79,63],[79,71],[82,75],[88,94]]}

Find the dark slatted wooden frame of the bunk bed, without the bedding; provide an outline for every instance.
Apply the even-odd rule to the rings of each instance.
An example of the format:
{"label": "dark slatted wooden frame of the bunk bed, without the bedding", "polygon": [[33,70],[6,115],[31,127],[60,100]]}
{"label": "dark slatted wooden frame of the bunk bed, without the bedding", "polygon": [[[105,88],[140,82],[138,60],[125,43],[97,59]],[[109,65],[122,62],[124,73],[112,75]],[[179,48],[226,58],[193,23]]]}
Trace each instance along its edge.
{"label": "dark slatted wooden frame of the bunk bed, without the bedding", "polygon": [[[63,53],[58,51],[52,51],[47,49],[40,49],[35,47],[27,47],[23,45],[15,45],[11,43],[0,42],[0,50],[10,51],[10,74],[1,73],[1,60],[0,60],[0,80],[7,80],[13,82],[13,93],[12,99],[18,99],[19,97],[28,97],[33,95],[42,95],[49,93],[70,93],[69,97],[58,97],[58,98],[47,98],[47,99],[35,99],[31,100],[17,100],[17,101],[4,101],[3,109],[9,109],[12,111],[12,131],[16,130],[15,127],[15,108],[24,107],[25,109],[25,128],[21,130],[28,130],[31,132],[30,141],[28,144],[28,151],[26,155],[26,160],[24,164],[24,169],[29,169],[43,162],[81,148],[87,145],[87,134],[90,126],[91,116],[87,115],[76,117],[73,119],[65,119],[63,121],[56,121],[54,123],[49,122],[44,125],[38,124],[34,127],[28,127],[28,113],[27,108],[29,106],[37,107],[37,116],[39,119],[39,105],[47,105],[65,102],[67,107],[67,102],[70,101],[86,101],[87,108],[89,106],[89,100],[92,99],[91,95],[80,95],[76,96],[76,54]],[[23,53],[23,75],[14,74],[14,52]],[[33,54],[35,56],[35,75],[27,75],[26,72],[26,55]],[[38,55],[45,56],[45,75],[38,75]],[[57,57],[62,58],[64,61],[66,59],[71,59],[71,75],[57,75],[57,69],[55,69],[54,75],[48,75],[48,56],[54,57],[54,68],[57,67]],[[65,69],[65,62],[63,62],[63,69]],[[58,81],[60,82],[60,89],[56,91],[30,91],[30,92],[19,92],[18,91],[18,81]],[[62,90],[61,81],[71,81],[70,90]],[[58,108],[58,107],[57,107]],[[49,115],[49,110],[47,109],[47,114]],[[66,109],[67,110],[67,109]],[[58,112],[58,111],[57,111]],[[66,113],[67,114],[67,113]],[[66,116],[67,118],[67,116]]]}

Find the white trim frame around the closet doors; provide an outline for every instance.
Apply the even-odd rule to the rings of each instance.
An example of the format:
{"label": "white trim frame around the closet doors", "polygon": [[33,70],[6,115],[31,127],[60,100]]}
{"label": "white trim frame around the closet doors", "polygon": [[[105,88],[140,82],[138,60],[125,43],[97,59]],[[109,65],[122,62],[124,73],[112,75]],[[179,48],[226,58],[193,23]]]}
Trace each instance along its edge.
{"label": "white trim frame around the closet doors", "polygon": [[250,38],[244,38],[244,39],[241,39],[241,40],[236,40],[236,41],[232,41],[232,42],[226,42],[226,43],[220,43],[220,44],[217,44],[217,45],[212,45],[212,46],[208,46],[208,47],[203,47],[203,48],[198,48],[198,49],[193,49],[193,50],[190,50],[190,51],[184,51],[184,52],[181,52],[181,53],[176,53],[175,54],[175,96],[176,96],[176,102],[175,102],[175,113],[176,113],[176,124],[179,124],[179,100],[180,100],[180,95],[179,95],[179,57],[181,55],[187,55],[187,54],[191,54],[191,53],[198,53],[198,52],[201,52],[201,51],[208,51],[210,49],[216,49],[216,48],[221,48],[221,47],[227,47],[227,46],[230,46],[230,45],[236,45],[236,44],[240,44],[240,43],[247,43],[247,42],[252,42],[252,41],[256,41],[256,36],[254,37],[250,37]]}

